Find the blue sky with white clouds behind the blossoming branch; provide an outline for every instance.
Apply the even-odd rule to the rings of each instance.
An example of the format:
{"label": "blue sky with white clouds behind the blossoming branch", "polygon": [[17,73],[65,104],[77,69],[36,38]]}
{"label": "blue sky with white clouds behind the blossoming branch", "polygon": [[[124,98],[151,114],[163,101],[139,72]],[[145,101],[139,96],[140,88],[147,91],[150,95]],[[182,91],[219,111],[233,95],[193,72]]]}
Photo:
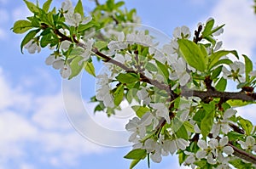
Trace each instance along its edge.
{"label": "blue sky with white clouds behind the blossoming branch", "polygon": [[[61,2],[54,0],[55,5]],[[83,2],[88,11],[94,6],[90,1]],[[188,25],[194,30],[198,22],[213,17],[219,25],[226,24],[224,34],[219,37],[224,48],[238,49],[239,54],[255,60],[256,16],[252,4],[253,0],[126,1],[127,8],[137,8],[143,24],[170,37],[176,26]],[[131,147],[121,146],[127,145],[127,135],[122,134],[128,119],[122,114],[111,119],[104,114],[93,115],[94,104],[86,101],[95,93],[94,79],[86,73],[79,76],[81,90],[74,92],[72,87],[80,79],[62,82],[59,72],[44,64],[49,55],[47,49],[39,54],[20,54],[24,35],[15,35],[10,28],[15,20],[25,19],[29,14],[21,0],[0,0],[0,169],[128,168],[130,161],[123,156]],[[98,65],[97,70],[100,69]],[[253,109],[255,106],[251,105],[239,110],[255,124]],[[81,115],[84,111],[89,116]],[[73,121],[76,115],[81,115],[81,121]],[[75,128],[71,123],[76,124]],[[101,127],[120,131],[120,135],[117,132],[110,138]],[[96,138],[101,139],[95,141]],[[118,148],[99,145],[109,145],[113,140]],[[147,168],[146,161],[136,168]],[[152,163],[151,168],[178,168],[177,157],[165,157],[160,164]]]}

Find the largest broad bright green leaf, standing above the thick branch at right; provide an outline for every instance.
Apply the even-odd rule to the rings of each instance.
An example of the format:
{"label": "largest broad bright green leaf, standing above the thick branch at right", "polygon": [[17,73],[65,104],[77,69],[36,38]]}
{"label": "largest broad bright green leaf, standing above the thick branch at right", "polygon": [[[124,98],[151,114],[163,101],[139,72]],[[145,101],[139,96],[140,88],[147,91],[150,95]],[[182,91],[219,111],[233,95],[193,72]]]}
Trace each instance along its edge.
{"label": "largest broad bright green leaf, standing above the thick branch at right", "polygon": [[196,70],[204,72],[206,70],[206,56],[201,52],[201,48],[195,43],[187,39],[179,39],[179,52],[187,63]]}

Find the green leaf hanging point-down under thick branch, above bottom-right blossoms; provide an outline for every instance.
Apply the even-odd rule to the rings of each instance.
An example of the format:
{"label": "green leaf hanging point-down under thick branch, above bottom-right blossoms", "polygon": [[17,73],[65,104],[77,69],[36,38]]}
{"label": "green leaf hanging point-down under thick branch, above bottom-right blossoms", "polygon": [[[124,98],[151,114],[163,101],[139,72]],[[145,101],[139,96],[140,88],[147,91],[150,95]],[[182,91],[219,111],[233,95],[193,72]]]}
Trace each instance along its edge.
{"label": "green leaf hanging point-down under thick branch, above bottom-right blossoms", "polygon": [[[204,107],[207,108],[207,107]],[[211,132],[212,130],[212,125],[213,125],[213,120],[214,120],[214,115],[215,111],[206,111],[207,114],[204,116],[204,118],[201,120],[201,134],[203,135],[204,138],[207,137],[207,135]]]}

